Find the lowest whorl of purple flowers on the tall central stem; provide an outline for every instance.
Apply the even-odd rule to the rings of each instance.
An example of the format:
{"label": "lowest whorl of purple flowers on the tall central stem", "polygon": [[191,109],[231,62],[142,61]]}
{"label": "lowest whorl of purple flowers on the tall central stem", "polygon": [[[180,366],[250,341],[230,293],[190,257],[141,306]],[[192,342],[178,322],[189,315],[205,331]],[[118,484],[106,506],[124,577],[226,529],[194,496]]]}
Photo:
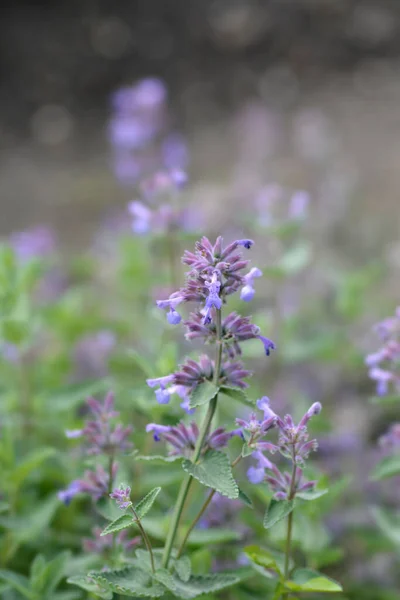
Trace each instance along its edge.
{"label": "lowest whorl of purple flowers on the tall central stem", "polygon": [[[184,456],[186,458],[192,456],[197,438],[199,437],[199,428],[194,422],[188,426],[182,423],[182,421],[175,426],[149,423],[146,426],[146,431],[153,433],[156,442],[163,440],[171,446],[171,450],[169,451],[170,456]],[[225,431],[224,427],[217,427],[213,432],[207,434],[202,453],[210,449],[215,450],[226,447],[229,440],[237,435],[241,436],[240,429]]]}

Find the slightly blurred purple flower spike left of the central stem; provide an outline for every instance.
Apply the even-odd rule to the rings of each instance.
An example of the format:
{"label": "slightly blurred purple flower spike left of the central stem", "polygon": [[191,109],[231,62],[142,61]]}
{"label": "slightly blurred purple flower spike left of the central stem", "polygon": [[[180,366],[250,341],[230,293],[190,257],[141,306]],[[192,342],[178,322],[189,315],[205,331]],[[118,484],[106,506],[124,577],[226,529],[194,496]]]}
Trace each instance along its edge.
{"label": "slightly blurred purple flower spike left of the central stem", "polygon": [[65,490],[61,490],[58,497],[67,505],[80,493],[88,494],[94,501],[105,496],[112,489],[117,475],[116,455],[132,447],[127,439],[132,427],[123,427],[120,423],[112,425],[112,420],[119,413],[114,410],[114,395],[111,392],[103,404],[95,398],[88,398],[87,404],[93,419],[88,420],[83,429],[67,430],[66,435],[70,439],[83,438],[87,454],[107,457],[108,469],[98,464],[94,471],[85,471],[82,479],[72,481]]}

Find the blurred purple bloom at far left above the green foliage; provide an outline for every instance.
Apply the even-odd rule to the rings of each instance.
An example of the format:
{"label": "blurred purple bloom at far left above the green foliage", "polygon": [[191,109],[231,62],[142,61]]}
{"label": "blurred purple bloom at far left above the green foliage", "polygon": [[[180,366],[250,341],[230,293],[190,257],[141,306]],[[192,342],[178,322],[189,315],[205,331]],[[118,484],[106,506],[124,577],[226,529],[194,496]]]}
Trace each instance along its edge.
{"label": "blurred purple bloom at far left above the green foliage", "polygon": [[34,227],[13,233],[10,244],[21,262],[48,257],[56,249],[54,233],[47,227]]}

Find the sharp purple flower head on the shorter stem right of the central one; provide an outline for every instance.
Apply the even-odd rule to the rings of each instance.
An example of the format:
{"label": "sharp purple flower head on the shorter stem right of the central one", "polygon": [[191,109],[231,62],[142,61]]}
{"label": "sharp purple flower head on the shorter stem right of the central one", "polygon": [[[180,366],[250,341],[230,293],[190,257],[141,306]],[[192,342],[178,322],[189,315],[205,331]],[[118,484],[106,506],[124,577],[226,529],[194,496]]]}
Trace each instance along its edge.
{"label": "sharp purple flower head on the shorter stem right of the central one", "polygon": [[[318,448],[317,440],[309,439],[307,424],[314,415],[320,413],[321,404],[315,402],[298,425],[295,425],[290,415],[286,415],[283,419],[275,415],[269,406],[268,398],[262,398],[258,402],[258,407],[264,410],[264,417],[267,421],[275,417],[279,439],[277,444],[262,443],[266,444],[265,447],[258,444],[257,450],[253,453],[253,457],[257,460],[257,466],[250,467],[248,470],[249,480],[252,483],[263,481],[268,483],[277,500],[292,500],[298,493],[312,491],[317,482],[305,481],[302,467],[310,452]],[[253,425],[253,428],[256,428],[256,424]],[[282,472],[261,450],[267,450],[271,454],[279,452],[292,463],[292,472]]]}

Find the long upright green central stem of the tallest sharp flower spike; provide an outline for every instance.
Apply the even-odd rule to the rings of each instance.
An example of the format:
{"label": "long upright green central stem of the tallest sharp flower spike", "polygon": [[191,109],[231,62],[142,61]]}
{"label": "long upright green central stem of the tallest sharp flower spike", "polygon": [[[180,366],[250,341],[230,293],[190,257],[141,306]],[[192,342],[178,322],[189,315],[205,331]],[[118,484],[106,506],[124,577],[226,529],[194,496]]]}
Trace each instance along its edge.
{"label": "long upright green central stem of the tallest sharp flower spike", "polygon": [[[221,325],[221,310],[216,311],[216,327],[217,327],[217,340],[216,340],[216,355],[215,355],[215,368],[214,368],[214,378],[213,382],[215,385],[218,385],[219,376],[221,371],[221,361],[222,361],[222,325]],[[215,410],[217,408],[217,400],[218,394],[210,401],[208,405],[207,414],[203,421],[203,424],[200,429],[199,437],[197,439],[196,447],[193,452],[192,462],[195,463],[199,460],[201,451],[203,449],[204,440],[207,437],[208,430],[211,425],[211,421],[214,417]],[[186,475],[185,479],[182,481],[182,485],[179,490],[178,498],[176,500],[174,513],[172,515],[171,524],[168,530],[167,539],[165,542],[164,555],[162,566],[166,569],[168,567],[169,559],[171,556],[172,545],[174,543],[179,522],[182,516],[183,507],[190,489],[192,485],[193,477],[189,474]]]}

